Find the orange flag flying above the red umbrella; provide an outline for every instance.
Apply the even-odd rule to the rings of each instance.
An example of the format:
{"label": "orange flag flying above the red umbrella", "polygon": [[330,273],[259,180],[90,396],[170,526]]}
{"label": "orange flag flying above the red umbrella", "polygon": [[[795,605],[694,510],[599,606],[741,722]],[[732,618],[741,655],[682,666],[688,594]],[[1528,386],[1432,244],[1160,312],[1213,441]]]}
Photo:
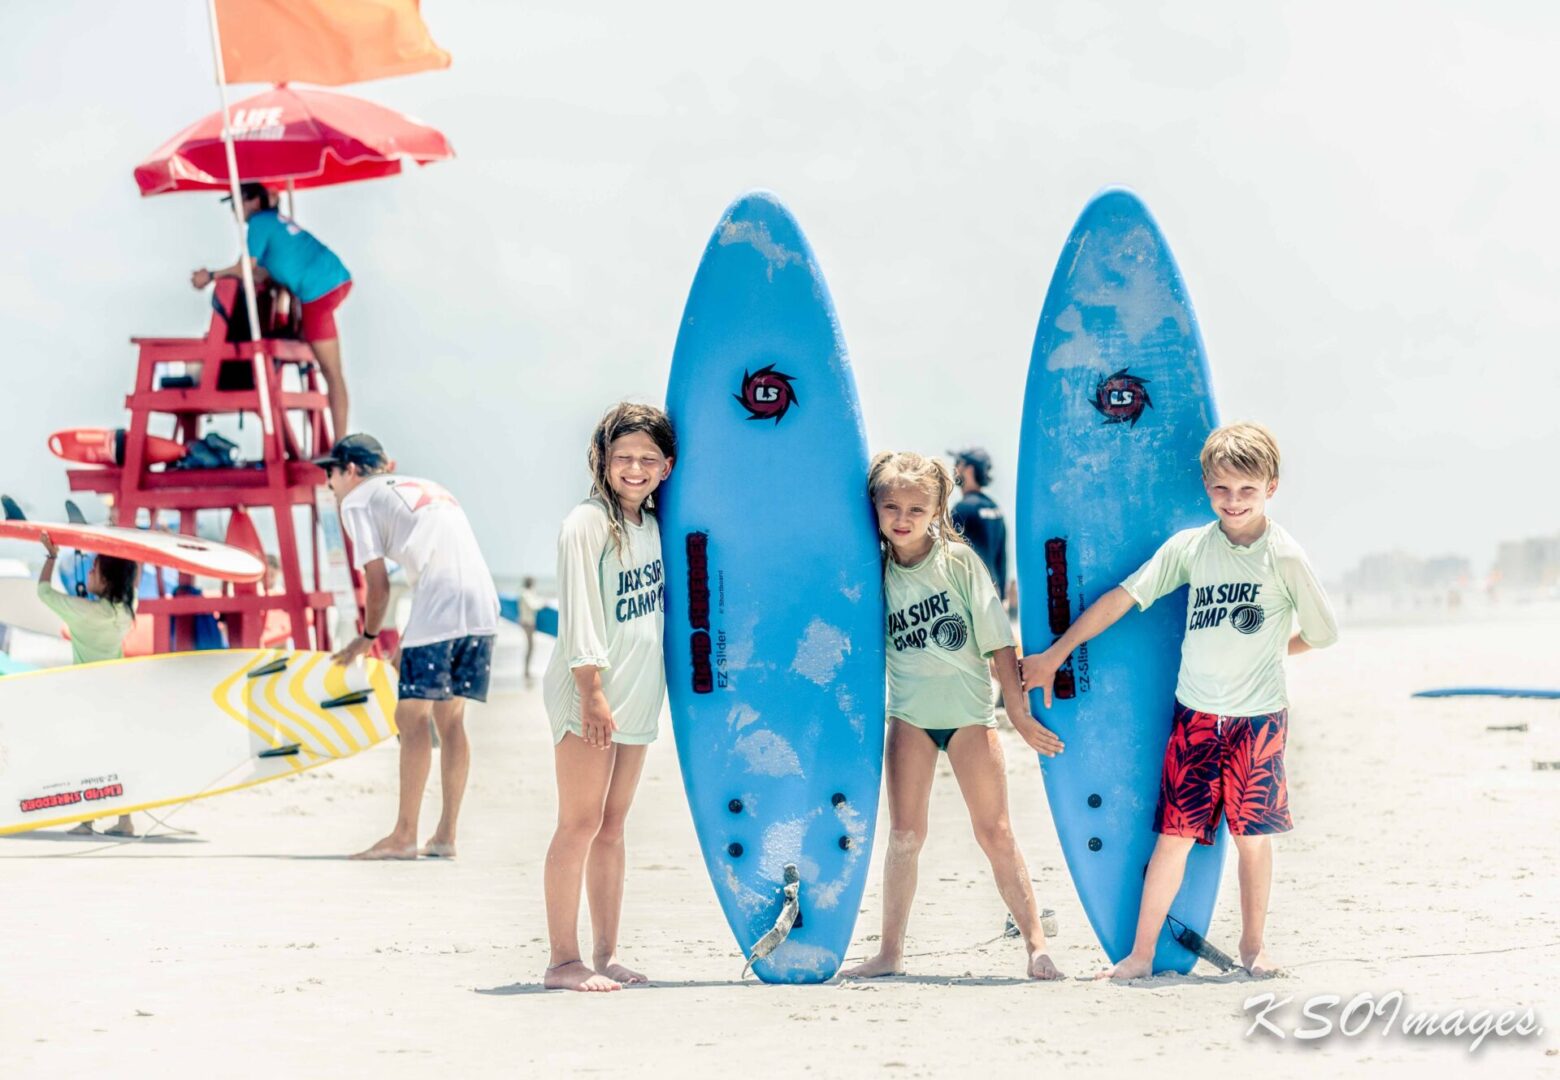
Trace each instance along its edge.
{"label": "orange flag flying above the red umbrella", "polygon": [[449,67],[418,0],[217,0],[228,83],[340,86]]}

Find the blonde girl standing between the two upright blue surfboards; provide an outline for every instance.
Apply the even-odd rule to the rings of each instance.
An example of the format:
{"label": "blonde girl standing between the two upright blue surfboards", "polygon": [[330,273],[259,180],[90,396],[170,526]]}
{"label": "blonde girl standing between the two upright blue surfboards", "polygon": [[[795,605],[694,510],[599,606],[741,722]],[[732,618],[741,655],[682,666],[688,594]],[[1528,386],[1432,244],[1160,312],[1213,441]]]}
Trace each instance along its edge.
{"label": "blonde girl standing between the two upright blue surfboards", "polygon": [[1045,952],[1030,871],[1008,819],[1008,773],[991,677],[1002,684],[1008,721],[1045,755],[1062,743],[1030,716],[1019,688],[1012,626],[991,573],[948,517],[953,478],[920,454],[878,454],[867,492],[883,540],[888,601],[888,805],[883,936],[878,954],[844,972],[903,974],[905,929],[927,840],[927,804],[938,752],[945,751],[970,812],[975,840],[991,860],[997,891],[1026,949],[1030,979],[1061,979]]}

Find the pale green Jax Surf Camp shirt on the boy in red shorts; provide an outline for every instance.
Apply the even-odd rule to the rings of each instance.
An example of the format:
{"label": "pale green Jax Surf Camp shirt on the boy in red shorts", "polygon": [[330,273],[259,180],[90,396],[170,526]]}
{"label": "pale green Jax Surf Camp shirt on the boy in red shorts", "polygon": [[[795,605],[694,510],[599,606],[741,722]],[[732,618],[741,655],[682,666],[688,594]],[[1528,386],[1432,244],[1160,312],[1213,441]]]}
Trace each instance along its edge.
{"label": "pale green Jax Surf Camp shirt on the boy in red shorts", "polygon": [[1284,655],[1295,623],[1306,645],[1338,640],[1338,623],[1306,552],[1276,521],[1239,548],[1218,521],[1175,534],[1122,582],[1139,609],[1189,585],[1175,696],[1217,716],[1289,707]]}

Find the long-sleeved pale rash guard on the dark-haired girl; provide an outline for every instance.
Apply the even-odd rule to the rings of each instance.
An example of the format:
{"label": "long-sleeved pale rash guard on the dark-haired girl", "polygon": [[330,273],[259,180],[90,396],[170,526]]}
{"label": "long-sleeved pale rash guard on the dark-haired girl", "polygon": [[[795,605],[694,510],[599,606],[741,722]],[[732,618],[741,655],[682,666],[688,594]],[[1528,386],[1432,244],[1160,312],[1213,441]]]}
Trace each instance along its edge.
{"label": "long-sleeved pale rash guard on the dark-haired girl", "polygon": [[624,523],[622,551],[612,542],[607,507],[576,506],[558,531],[558,641],[543,676],[552,741],[580,732],[574,668],[601,668],[615,743],[655,741],[666,665],[661,660],[665,598],[661,531],[654,513]]}

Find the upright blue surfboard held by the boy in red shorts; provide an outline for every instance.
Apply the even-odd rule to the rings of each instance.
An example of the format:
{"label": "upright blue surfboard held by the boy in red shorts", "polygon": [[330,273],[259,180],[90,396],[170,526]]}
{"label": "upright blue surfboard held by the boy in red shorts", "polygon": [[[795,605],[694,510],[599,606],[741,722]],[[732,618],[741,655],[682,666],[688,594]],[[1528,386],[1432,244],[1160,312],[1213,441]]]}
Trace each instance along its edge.
{"label": "upright blue surfboard held by the boy in red shorts", "polygon": [[[1211,520],[1198,451],[1217,425],[1192,303],[1136,195],[1104,190],[1062,248],[1023,396],[1017,540],[1023,645],[1055,641],[1173,532]],[[1067,743],[1042,758],[1062,855],[1112,961],[1133,949],[1175,707],[1186,592],[1129,612],[1058,673]],[[1172,918],[1200,935],[1218,894],[1225,829],[1192,852]],[[1168,929],[1154,971],[1190,971]]]}

